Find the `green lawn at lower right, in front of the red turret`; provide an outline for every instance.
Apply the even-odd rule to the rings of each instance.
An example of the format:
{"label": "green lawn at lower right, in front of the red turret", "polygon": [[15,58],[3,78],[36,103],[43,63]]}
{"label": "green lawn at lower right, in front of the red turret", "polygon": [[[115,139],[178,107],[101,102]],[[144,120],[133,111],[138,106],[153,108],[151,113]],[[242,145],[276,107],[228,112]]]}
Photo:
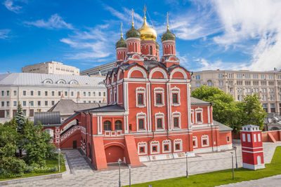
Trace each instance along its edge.
{"label": "green lawn at lower right, in front of the red turret", "polygon": [[155,186],[217,186],[227,183],[236,183],[240,181],[249,181],[253,179],[261,179],[267,176],[281,174],[281,146],[275,149],[273,159],[270,164],[266,164],[265,169],[258,169],[256,171],[244,168],[235,169],[235,180],[232,179],[232,169],[221,170],[218,172],[209,172],[204,174],[190,175],[187,179],[185,176],[165,179],[160,181],[152,181],[148,183],[138,183],[132,186],[146,186],[152,184]]}

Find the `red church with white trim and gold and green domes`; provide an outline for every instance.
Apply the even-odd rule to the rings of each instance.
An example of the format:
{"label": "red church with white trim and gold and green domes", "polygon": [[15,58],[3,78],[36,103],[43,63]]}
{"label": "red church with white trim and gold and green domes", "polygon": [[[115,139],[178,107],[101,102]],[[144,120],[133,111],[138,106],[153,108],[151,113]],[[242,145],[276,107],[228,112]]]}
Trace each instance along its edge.
{"label": "red church with white trim and gold and green domes", "polygon": [[56,146],[80,147],[96,169],[119,158],[133,167],[232,148],[231,128],[213,120],[211,103],[190,97],[190,71],[176,57],[169,24],[162,57],[156,39],[145,15],[140,29],[132,22],[105,79],[107,106],[76,111],[53,126]]}

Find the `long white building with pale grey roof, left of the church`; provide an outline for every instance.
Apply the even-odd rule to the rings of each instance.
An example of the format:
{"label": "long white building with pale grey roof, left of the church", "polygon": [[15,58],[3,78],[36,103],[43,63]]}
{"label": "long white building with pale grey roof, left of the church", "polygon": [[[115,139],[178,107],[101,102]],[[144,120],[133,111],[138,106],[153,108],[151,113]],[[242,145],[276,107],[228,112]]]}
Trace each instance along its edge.
{"label": "long white building with pale grey roof, left of the church", "polygon": [[54,74],[0,74],[0,123],[15,116],[18,102],[26,117],[48,111],[60,99],[106,103],[105,77]]}

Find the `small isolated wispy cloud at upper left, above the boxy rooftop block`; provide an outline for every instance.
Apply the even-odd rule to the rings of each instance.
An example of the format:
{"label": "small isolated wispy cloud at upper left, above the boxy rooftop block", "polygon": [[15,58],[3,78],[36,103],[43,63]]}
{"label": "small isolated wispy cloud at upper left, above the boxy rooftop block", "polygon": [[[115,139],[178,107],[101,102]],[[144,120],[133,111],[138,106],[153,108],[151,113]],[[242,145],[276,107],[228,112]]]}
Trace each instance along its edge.
{"label": "small isolated wispy cloud at upper left, above the boxy rooftop block", "polygon": [[37,20],[34,22],[24,22],[25,25],[34,25],[45,29],[73,29],[70,23],[67,23],[58,14],[51,15],[47,21]]}

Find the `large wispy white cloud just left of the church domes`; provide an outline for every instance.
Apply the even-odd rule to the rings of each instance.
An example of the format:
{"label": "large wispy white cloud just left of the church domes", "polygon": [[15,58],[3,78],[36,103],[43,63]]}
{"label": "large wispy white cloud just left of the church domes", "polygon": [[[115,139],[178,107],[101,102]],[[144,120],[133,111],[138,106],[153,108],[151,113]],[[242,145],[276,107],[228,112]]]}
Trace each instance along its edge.
{"label": "large wispy white cloud just left of the church domes", "polygon": [[94,60],[100,62],[108,60],[115,53],[114,43],[118,40],[117,33],[110,32],[110,25],[97,25],[86,31],[75,32],[60,41],[68,44],[72,52],[67,58],[74,60]]}

